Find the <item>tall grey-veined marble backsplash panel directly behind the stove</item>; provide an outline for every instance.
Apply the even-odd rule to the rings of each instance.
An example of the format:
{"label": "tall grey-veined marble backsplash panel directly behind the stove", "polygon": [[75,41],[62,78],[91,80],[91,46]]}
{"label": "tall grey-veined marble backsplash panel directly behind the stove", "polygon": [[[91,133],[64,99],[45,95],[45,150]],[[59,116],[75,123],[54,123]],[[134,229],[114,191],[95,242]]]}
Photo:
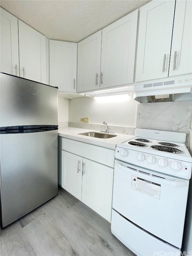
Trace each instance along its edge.
{"label": "tall grey-veined marble backsplash panel directly behind the stove", "polygon": [[184,132],[188,137],[191,112],[192,101],[138,104],[136,128]]}

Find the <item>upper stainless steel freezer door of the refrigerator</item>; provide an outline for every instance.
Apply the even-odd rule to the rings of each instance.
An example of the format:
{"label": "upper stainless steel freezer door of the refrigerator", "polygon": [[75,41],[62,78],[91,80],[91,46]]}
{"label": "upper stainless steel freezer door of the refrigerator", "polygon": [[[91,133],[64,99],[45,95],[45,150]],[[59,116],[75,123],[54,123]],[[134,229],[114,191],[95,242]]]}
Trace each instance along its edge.
{"label": "upper stainless steel freezer door of the refrigerator", "polygon": [[57,125],[58,89],[0,73],[0,127]]}

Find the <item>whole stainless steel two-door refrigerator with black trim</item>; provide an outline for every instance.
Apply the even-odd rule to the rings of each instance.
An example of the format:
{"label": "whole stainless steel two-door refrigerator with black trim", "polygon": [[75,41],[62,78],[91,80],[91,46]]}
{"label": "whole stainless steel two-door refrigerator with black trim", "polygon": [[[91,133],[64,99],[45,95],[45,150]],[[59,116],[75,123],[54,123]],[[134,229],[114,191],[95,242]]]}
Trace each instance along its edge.
{"label": "whole stainless steel two-door refrigerator with black trim", "polygon": [[0,73],[1,226],[57,195],[58,88]]}

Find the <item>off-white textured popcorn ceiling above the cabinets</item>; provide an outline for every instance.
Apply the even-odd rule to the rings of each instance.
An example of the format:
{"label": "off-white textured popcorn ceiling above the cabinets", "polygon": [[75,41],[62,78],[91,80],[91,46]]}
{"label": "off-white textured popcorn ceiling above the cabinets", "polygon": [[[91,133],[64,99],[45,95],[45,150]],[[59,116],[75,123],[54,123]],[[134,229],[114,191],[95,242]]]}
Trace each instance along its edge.
{"label": "off-white textured popcorn ceiling above the cabinets", "polygon": [[79,42],[150,0],[1,0],[0,6],[49,39]]}

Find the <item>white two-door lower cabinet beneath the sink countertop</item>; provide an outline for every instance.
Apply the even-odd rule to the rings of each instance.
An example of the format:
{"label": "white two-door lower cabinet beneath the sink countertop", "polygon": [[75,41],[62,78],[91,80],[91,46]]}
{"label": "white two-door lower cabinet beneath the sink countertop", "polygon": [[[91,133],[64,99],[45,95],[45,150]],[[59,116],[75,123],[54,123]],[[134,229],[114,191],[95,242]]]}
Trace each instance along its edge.
{"label": "white two-door lower cabinet beneath the sink countertop", "polygon": [[[66,151],[71,149],[69,147],[70,145],[73,145],[74,148],[78,149],[79,143],[82,144],[82,151],[77,152],[81,156]],[[107,165],[112,166],[110,167],[84,158],[85,152],[83,151],[83,145],[84,149],[89,148],[90,152],[86,156],[90,156],[90,158],[100,148],[100,151],[103,151],[103,155],[113,159],[114,162],[114,151],[65,138],[62,138],[62,149],[61,142],[59,145],[59,160],[61,157],[61,168],[59,167],[58,169],[58,183],[62,188],[67,190],[70,194],[78,198],[110,222],[114,164],[112,166],[111,161],[106,162]],[[98,161],[101,160],[99,158],[97,159]]]}

